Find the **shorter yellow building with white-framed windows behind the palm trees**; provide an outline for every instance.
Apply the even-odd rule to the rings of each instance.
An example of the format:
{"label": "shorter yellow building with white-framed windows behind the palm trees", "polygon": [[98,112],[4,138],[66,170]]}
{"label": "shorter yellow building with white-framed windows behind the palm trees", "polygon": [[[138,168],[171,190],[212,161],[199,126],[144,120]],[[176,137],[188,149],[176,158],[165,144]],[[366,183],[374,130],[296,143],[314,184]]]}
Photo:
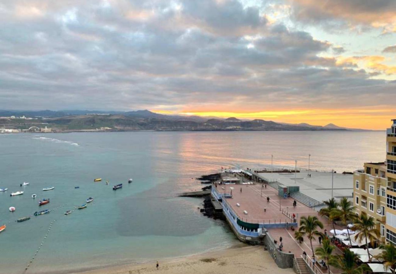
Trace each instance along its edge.
{"label": "shorter yellow building with white-framed windows behind the palm trees", "polygon": [[364,169],[353,174],[353,200],[356,213],[364,212],[377,222],[381,242],[385,242],[386,165],[385,162],[364,163]]}

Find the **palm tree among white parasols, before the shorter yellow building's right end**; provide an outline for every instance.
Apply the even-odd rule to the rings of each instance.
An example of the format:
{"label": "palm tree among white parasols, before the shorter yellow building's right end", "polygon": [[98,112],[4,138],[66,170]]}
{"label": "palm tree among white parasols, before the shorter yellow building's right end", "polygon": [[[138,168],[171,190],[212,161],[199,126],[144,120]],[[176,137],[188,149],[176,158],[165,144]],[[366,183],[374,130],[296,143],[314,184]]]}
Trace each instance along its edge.
{"label": "palm tree among white parasols, before the shorter yellow building's right end", "polygon": [[379,231],[375,228],[375,220],[373,217],[362,213],[354,221],[355,224],[351,229],[353,231],[358,231],[355,235],[355,241],[359,240],[359,242],[362,242],[363,239],[366,240],[367,255],[369,256],[369,262],[371,262],[367,239],[369,239],[370,242],[374,242],[375,239],[380,237]]}

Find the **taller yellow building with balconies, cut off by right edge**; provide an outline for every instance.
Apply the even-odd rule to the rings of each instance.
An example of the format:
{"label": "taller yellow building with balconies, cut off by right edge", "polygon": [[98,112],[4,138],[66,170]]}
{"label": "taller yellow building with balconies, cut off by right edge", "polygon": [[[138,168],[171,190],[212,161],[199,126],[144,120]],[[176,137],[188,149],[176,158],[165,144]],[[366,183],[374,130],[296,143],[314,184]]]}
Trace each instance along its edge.
{"label": "taller yellow building with balconies, cut off by right edge", "polygon": [[386,242],[396,244],[396,119],[386,130]]}

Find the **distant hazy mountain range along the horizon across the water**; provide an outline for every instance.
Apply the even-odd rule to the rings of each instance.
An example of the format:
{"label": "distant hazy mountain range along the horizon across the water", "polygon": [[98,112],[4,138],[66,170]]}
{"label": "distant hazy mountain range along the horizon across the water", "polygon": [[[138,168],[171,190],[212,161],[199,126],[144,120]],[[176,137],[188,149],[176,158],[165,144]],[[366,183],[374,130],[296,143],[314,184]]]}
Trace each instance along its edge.
{"label": "distant hazy mountain range along the horizon across the water", "polygon": [[286,124],[261,119],[240,120],[201,116],[164,115],[149,110],[101,111],[101,110],[39,110],[15,111],[0,110],[0,117],[36,118],[6,119],[0,118],[0,128],[27,129],[43,124],[53,131],[78,130],[160,130],[160,131],[280,131],[280,130],[360,130],[339,127],[334,124],[314,126],[307,123]]}

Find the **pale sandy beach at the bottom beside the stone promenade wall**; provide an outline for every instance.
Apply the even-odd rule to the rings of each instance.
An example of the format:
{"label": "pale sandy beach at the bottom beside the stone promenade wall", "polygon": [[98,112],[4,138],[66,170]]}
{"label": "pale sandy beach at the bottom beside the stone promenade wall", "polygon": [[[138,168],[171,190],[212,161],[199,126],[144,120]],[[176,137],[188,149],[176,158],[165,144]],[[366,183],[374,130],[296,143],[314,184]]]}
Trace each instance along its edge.
{"label": "pale sandy beach at the bottom beside the stone promenade wall", "polygon": [[208,252],[191,257],[158,261],[142,264],[127,264],[78,272],[79,274],[197,274],[197,273],[228,273],[228,274],[255,274],[279,273],[292,274],[293,269],[281,269],[276,266],[268,251],[263,246],[239,245],[222,251]]}

